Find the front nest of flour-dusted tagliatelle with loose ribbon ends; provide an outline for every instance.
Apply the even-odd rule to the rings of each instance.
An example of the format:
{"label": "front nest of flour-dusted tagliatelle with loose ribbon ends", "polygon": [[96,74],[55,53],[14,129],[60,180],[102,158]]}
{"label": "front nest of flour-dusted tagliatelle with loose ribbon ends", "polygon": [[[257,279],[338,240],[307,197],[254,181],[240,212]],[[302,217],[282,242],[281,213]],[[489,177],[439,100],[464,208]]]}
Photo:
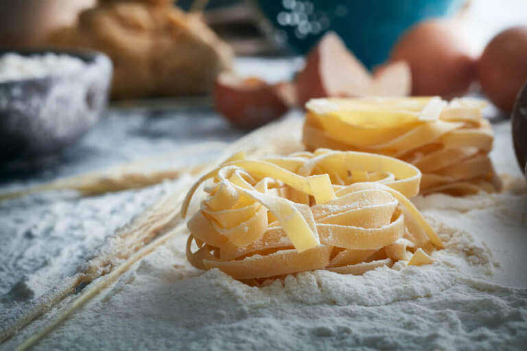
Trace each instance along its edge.
{"label": "front nest of flour-dusted tagliatelle with loose ribbon ends", "polygon": [[187,258],[250,284],[314,269],[363,274],[400,260],[422,265],[443,247],[408,200],[419,193],[421,172],[388,156],[235,154],[194,184],[183,217],[207,180],[208,196],[187,224]]}

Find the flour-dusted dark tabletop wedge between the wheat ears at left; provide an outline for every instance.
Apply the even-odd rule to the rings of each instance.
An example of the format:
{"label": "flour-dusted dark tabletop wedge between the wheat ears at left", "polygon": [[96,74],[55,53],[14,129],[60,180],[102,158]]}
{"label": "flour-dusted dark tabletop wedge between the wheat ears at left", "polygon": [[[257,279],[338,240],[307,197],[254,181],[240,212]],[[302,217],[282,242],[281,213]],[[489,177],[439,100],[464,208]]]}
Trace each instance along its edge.
{"label": "flour-dusted dark tabletop wedge between the wheat ears at left", "polygon": [[0,228],[12,232],[0,244],[0,330],[35,298],[73,276],[117,228],[171,189],[165,183],[79,201],[73,194],[57,199],[49,193],[0,202]]}

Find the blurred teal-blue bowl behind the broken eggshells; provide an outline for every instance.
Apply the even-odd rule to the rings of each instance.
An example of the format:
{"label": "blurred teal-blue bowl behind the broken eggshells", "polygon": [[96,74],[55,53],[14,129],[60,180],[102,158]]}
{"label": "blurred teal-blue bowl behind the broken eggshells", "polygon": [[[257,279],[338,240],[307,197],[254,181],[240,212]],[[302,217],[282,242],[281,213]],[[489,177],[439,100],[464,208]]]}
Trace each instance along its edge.
{"label": "blurred teal-blue bowl behind the broken eggshells", "polygon": [[368,69],[388,58],[405,29],[452,14],[465,0],[256,0],[273,36],[306,53],[327,31],[337,32]]}

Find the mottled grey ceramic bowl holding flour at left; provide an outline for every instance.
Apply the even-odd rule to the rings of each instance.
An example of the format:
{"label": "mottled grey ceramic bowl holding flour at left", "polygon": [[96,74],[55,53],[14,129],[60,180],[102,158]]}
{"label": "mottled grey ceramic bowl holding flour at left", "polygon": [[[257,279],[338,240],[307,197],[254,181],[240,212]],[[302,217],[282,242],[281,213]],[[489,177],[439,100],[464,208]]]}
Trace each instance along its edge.
{"label": "mottled grey ceramic bowl holding flour at left", "polygon": [[65,53],[86,68],[0,82],[0,161],[36,158],[77,141],[98,121],[108,103],[112,64],[97,51],[77,49],[0,50],[23,56]]}

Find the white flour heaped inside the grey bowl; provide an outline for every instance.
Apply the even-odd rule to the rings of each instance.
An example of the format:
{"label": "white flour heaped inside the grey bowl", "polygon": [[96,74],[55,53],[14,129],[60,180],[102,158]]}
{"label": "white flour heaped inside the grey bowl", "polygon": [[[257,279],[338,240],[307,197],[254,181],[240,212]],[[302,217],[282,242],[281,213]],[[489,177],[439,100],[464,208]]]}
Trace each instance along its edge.
{"label": "white flour heaped inside the grey bowl", "polygon": [[86,64],[73,56],[56,53],[21,56],[5,53],[0,56],[0,82],[67,75],[84,69]]}

